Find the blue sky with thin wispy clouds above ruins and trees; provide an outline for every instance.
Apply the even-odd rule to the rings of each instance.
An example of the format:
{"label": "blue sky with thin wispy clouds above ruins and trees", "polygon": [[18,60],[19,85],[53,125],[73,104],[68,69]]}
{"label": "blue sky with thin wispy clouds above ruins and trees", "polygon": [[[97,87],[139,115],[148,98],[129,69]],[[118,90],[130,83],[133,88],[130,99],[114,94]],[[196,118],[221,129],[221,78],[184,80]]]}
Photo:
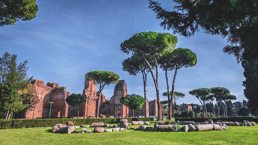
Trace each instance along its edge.
{"label": "blue sky with thin wispy clouds above ruins and trees", "polygon": [[[168,10],[172,0],[161,0]],[[141,74],[131,76],[122,70],[122,61],[130,55],[120,50],[120,44],[135,33],[144,31],[168,32],[148,9],[147,0],[76,1],[37,0],[36,18],[0,27],[0,54],[18,56],[18,62],[28,60],[29,75],[35,79],[57,82],[71,93],[82,93],[84,75],[93,70],[113,71],[127,82],[129,94],[143,96]],[[185,93],[181,103],[199,103],[188,92],[196,88],[225,87],[237,100],[243,94],[243,68],[232,55],[222,52],[226,39],[206,35],[202,31],[190,38],[178,36],[176,47],[191,49],[198,62],[194,67],[178,70],[175,91]],[[165,73],[159,71],[161,100],[166,97]],[[170,86],[174,71],[169,72]],[[115,85],[103,90],[106,99],[113,95]],[[151,75],[147,81],[147,98],[156,99]]]}

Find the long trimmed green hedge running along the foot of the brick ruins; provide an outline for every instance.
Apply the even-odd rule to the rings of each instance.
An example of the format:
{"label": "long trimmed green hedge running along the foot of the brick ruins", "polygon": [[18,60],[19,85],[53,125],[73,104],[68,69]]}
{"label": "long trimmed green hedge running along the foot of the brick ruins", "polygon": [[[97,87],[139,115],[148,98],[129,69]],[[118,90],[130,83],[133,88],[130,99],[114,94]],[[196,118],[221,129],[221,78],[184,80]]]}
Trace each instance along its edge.
{"label": "long trimmed green hedge running along the foot of the brick ruins", "polygon": [[[0,119],[0,129],[8,128],[28,128],[28,127],[50,127],[55,124],[66,124],[67,121],[72,121],[74,125],[92,124],[97,122],[103,123],[119,123],[124,118],[60,118],[60,119]],[[126,118],[131,121],[153,121],[153,118]]]}

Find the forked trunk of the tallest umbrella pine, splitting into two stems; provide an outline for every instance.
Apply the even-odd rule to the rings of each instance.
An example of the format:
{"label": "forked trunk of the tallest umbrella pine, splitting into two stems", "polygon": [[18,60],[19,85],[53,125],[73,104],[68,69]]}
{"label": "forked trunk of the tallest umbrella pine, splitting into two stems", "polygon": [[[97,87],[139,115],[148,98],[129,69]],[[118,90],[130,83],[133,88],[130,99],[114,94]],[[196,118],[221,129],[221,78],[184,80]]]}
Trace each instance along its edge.
{"label": "forked trunk of the tallest umbrella pine, splitting into two stems", "polygon": [[145,53],[143,53],[143,58],[144,58],[146,64],[148,65],[148,67],[150,69],[151,76],[152,76],[152,79],[154,81],[154,85],[155,85],[155,89],[156,89],[157,104],[158,104],[158,118],[157,118],[157,120],[162,121],[162,117],[161,117],[161,109],[162,108],[161,108],[160,97],[159,97],[159,88],[158,88],[158,62],[157,62],[156,57],[153,56],[154,62],[155,62],[155,68],[156,68],[156,79],[155,79],[154,73],[151,69],[151,65],[149,64],[148,60],[145,58]]}

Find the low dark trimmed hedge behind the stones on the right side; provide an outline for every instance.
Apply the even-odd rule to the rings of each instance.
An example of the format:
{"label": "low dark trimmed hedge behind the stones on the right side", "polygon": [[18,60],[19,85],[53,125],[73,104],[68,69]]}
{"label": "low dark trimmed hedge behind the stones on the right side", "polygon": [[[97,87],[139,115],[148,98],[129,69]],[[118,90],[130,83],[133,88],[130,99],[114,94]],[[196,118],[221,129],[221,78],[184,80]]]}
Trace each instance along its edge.
{"label": "low dark trimmed hedge behind the stones on the right side", "polygon": [[175,118],[175,121],[194,121],[194,122],[205,122],[208,119],[212,119],[213,122],[216,122],[217,120],[221,120],[221,121],[233,121],[233,122],[243,122],[244,120],[248,120],[248,121],[253,121],[258,123],[258,119],[257,118],[250,118],[250,117],[234,117],[234,118],[226,118],[226,117],[222,117],[222,118]]}

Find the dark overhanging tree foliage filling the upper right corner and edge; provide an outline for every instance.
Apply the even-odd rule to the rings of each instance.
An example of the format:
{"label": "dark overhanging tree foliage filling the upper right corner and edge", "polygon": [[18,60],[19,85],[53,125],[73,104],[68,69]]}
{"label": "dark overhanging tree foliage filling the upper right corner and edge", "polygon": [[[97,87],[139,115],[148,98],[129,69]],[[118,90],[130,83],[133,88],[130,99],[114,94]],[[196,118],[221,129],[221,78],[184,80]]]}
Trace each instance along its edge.
{"label": "dark overhanging tree foliage filling the upper right corner and edge", "polygon": [[[258,2],[256,0],[173,0],[174,10],[167,11],[161,3],[149,0],[149,8],[161,19],[164,29],[190,37],[199,30],[226,37],[226,54],[233,54],[244,68],[244,94],[252,112],[258,114]],[[172,4],[171,4],[172,5]],[[256,71],[255,71],[256,70]],[[255,77],[256,76],[256,77]],[[255,79],[254,79],[255,78]]]}

